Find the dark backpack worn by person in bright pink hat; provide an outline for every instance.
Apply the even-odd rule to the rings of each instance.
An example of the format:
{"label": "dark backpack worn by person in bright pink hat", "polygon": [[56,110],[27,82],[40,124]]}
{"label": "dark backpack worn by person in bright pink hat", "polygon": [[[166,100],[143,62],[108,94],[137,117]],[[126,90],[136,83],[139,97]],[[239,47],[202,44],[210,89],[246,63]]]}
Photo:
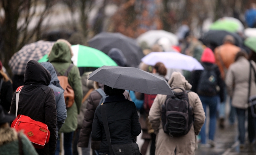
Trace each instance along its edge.
{"label": "dark backpack worn by person in bright pink hat", "polygon": [[215,65],[211,67],[204,66],[204,71],[200,75],[197,87],[197,94],[212,97],[217,95],[218,86],[217,74],[214,70]]}

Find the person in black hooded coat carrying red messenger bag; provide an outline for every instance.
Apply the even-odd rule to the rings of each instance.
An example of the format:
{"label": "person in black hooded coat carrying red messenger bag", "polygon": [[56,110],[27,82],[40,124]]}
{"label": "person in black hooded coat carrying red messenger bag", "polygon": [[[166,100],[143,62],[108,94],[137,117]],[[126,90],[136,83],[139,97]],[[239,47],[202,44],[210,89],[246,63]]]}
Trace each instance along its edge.
{"label": "person in black hooded coat carrying red messenger bag", "polygon": [[[54,91],[48,87],[51,74],[37,61],[27,63],[24,87],[19,94],[17,115],[25,115],[48,126],[50,140],[43,149],[36,149],[39,155],[54,155],[56,150],[56,102]],[[15,114],[16,93],[12,97],[10,114]]]}

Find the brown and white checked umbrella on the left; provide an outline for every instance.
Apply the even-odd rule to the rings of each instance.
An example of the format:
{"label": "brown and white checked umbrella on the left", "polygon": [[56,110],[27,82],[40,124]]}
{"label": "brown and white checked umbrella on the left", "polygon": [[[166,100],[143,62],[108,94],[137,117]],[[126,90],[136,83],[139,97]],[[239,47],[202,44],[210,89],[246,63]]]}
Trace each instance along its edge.
{"label": "brown and white checked umbrella on the left", "polygon": [[9,60],[9,66],[14,75],[24,75],[27,62],[29,60],[38,61],[45,54],[52,49],[54,42],[37,41],[35,43],[27,44],[18,52],[16,52]]}

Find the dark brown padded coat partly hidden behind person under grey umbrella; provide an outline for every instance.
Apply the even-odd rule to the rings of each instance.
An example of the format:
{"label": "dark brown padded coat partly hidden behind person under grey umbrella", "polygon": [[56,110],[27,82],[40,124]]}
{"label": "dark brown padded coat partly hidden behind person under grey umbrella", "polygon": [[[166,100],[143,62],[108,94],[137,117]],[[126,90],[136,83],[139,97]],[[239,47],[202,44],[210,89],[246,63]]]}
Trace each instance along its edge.
{"label": "dark brown padded coat partly hidden behind person under grey umbrella", "polygon": [[[82,148],[88,148],[90,134],[92,132],[92,122],[94,119],[94,113],[97,106],[100,103],[102,96],[96,91],[96,89],[103,89],[103,84],[99,84],[98,82],[94,82],[94,91],[92,91],[88,97],[87,106],[83,118],[83,127],[80,131],[78,146]],[[125,97],[128,96],[128,92],[125,91],[123,93]],[[91,141],[92,149],[100,149],[100,141],[92,140]]]}

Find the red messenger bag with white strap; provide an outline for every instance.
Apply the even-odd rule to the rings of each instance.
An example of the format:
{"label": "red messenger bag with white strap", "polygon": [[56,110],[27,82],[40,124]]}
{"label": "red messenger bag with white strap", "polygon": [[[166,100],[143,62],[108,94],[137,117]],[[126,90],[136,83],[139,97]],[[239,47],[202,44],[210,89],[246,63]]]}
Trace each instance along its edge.
{"label": "red messenger bag with white strap", "polygon": [[[16,90],[16,112],[17,116],[18,105],[19,105],[19,93],[23,86],[20,86]],[[30,117],[25,115],[18,115],[15,120],[13,120],[12,128],[16,131],[23,130],[23,133],[27,135],[29,141],[32,142],[33,146],[37,149],[44,148],[45,144],[49,142],[50,139],[50,131],[46,124],[32,120]]]}

